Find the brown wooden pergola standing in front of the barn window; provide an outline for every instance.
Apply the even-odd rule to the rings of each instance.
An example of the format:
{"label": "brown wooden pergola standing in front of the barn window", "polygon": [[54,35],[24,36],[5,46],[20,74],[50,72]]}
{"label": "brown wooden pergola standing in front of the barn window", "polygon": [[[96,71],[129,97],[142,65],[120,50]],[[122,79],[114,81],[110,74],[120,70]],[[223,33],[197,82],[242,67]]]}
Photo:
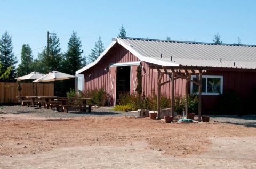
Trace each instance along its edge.
{"label": "brown wooden pergola standing in front of the barn window", "polygon": [[[198,121],[201,122],[201,115],[202,115],[202,74],[206,72],[206,67],[197,67],[197,66],[156,66],[152,65],[150,66],[151,69],[153,69],[154,72],[158,72],[158,81],[157,81],[157,111],[158,111],[158,119],[160,117],[160,100],[161,100],[161,86],[165,85],[166,83],[171,82],[172,83],[172,90],[171,90],[171,115],[174,115],[174,97],[175,97],[175,91],[174,91],[174,80],[176,79],[185,79],[186,80],[186,107],[185,107],[185,113],[186,118],[188,118],[188,84],[189,82],[192,82],[199,86],[198,91]],[[165,81],[161,83],[161,80],[163,78],[163,75],[167,74],[169,76],[168,81]],[[191,80],[191,75],[195,74],[196,79]]]}

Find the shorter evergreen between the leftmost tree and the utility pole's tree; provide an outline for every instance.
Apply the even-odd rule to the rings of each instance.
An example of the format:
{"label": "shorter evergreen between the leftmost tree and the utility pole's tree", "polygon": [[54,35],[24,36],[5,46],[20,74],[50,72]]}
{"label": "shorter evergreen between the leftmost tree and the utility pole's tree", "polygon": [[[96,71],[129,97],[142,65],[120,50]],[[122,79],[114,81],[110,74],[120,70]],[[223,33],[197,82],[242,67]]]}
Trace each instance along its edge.
{"label": "shorter evergreen between the leftmost tree and the utility pole's tree", "polygon": [[17,73],[18,76],[29,74],[33,71],[32,63],[33,63],[33,55],[30,46],[27,44],[22,45],[21,49],[21,63],[18,66]]}

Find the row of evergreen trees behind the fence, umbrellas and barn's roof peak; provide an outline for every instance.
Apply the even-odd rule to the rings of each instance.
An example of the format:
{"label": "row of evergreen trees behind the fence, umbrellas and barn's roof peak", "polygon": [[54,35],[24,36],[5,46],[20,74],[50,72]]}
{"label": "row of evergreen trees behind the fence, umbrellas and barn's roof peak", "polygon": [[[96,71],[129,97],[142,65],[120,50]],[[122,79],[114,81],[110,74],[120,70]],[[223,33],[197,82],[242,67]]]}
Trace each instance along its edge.
{"label": "row of evergreen trees behind the fence, umbrellas and barn's roof peak", "polygon": [[[119,36],[126,36],[123,25]],[[38,53],[35,59],[30,45],[23,44],[20,53],[21,62],[18,67],[15,67],[18,59],[13,52],[12,37],[5,31],[0,39],[0,82],[15,82],[16,77],[27,75],[33,71],[47,74],[54,70],[75,75],[77,70],[86,66],[87,63],[94,62],[105,50],[99,36],[94,48],[91,49],[91,53],[88,56],[82,56],[82,41],[77,36],[76,31],[71,34],[67,51],[64,53],[61,52],[60,39],[56,33],[50,33],[47,43],[48,45],[43,48],[42,52]],[[66,82],[66,84],[69,85],[65,85],[65,91],[68,91],[69,88],[74,89],[74,79]]]}

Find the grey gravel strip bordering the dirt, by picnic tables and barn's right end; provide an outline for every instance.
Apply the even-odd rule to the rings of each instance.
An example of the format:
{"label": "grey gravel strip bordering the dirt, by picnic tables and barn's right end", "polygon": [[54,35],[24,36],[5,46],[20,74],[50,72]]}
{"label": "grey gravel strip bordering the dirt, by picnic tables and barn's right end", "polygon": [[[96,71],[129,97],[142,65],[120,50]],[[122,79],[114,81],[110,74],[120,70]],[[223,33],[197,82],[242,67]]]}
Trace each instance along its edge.
{"label": "grey gravel strip bordering the dirt, by picnic tables and barn's right end", "polygon": [[[110,107],[95,108],[92,107],[92,112],[75,112],[69,113],[55,112],[51,109],[35,109],[33,107],[22,106],[0,106],[0,116],[2,114],[24,114],[30,117],[41,118],[77,118],[77,117],[106,117],[106,116],[139,116],[139,112],[121,112],[113,111]],[[256,127],[256,115],[247,116],[227,116],[218,115],[210,116],[210,121],[218,121],[223,123],[244,125],[248,127]]]}

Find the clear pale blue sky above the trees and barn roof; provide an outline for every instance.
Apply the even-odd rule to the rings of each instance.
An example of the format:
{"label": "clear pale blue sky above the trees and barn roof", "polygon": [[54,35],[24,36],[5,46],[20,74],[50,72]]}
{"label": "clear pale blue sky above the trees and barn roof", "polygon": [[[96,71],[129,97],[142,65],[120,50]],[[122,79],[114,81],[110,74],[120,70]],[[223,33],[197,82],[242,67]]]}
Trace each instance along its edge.
{"label": "clear pale blue sky above the trees and barn roof", "polygon": [[124,26],[126,37],[256,44],[254,0],[0,0],[0,34],[12,36],[20,60],[23,44],[34,58],[47,45],[47,31],[60,38],[62,52],[73,31],[81,38],[83,56],[101,36],[105,48]]}

